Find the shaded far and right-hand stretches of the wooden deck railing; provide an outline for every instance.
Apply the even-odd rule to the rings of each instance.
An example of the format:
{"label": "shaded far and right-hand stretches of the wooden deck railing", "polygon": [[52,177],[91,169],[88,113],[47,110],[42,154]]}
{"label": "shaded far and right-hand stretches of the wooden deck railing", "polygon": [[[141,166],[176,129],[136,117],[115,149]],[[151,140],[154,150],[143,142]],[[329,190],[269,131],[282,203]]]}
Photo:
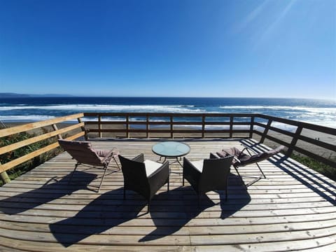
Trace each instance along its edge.
{"label": "shaded far and right-hand stretches of the wooden deck railing", "polygon": [[[251,113],[84,113],[84,116],[85,128],[98,134],[98,137],[103,137],[103,134],[107,133],[113,133],[113,137],[121,134],[119,137],[126,138],[259,137],[260,143],[269,140],[286,146],[288,156],[296,151],[336,167],[336,146],[331,143],[336,141],[336,129],[330,127]],[[211,127],[221,127],[221,129],[211,129]],[[289,128],[289,130],[283,130],[283,128]],[[332,141],[329,143],[320,140],[321,134],[325,135],[324,139],[329,138]],[[323,148],[325,153],[333,153],[333,155],[323,157],[308,151],[307,148],[302,147],[307,144]]]}

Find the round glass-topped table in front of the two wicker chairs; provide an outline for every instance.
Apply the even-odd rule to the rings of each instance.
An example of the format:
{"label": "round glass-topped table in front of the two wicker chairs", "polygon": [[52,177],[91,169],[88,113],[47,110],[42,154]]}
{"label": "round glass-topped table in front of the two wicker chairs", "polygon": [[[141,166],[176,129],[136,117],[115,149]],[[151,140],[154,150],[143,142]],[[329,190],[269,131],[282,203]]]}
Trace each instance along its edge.
{"label": "round glass-topped table in front of the two wicker chairs", "polygon": [[[176,158],[176,161],[181,165],[179,158],[181,160],[183,155],[187,155],[190,152],[190,146],[178,141],[162,141],[153,145],[152,151],[156,155],[160,155],[160,160],[162,157],[164,157],[165,160],[167,158]],[[165,162],[165,160],[163,162]]]}

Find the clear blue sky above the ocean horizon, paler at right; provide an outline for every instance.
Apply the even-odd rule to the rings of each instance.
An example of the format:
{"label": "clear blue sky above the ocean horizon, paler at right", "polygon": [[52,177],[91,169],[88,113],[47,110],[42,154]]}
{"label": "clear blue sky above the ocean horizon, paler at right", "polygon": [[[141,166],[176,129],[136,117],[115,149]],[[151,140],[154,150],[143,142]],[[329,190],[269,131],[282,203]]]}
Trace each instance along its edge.
{"label": "clear blue sky above the ocean horizon, paler at right", "polygon": [[0,0],[0,92],[336,100],[335,0]]}

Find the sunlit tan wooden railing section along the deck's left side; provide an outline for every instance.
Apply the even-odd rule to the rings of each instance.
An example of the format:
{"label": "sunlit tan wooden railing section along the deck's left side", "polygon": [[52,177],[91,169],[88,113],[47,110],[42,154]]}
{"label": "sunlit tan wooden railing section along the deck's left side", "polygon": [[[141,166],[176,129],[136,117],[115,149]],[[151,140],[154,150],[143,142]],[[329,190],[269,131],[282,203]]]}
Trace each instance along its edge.
{"label": "sunlit tan wooden railing section along the deck's left side", "polygon": [[[57,139],[62,139],[62,134],[66,134],[66,139],[73,140],[73,139],[78,139],[79,137],[85,136],[85,127],[84,123],[81,121],[81,118],[83,117],[83,113],[78,113],[75,115],[71,116],[63,116],[60,118],[55,118],[51,120],[45,120],[41,122],[36,122],[36,123],[28,123],[25,125],[20,125],[16,127],[8,127],[0,130],[0,138],[3,137],[8,137],[13,134],[18,134],[22,132],[29,132],[29,131],[34,131],[41,129],[43,127],[50,127],[52,128],[51,132],[45,132],[44,134],[37,135],[35,134],[29,134],[31,137],[22,141],[15,142],[13,144],[9,144],[7,146],[2,146],[0,148],[0,155],[3,155],[4,153],[9,153],[10,151],[15,151],[18,148],[22,148],[25,146],[29,146],[30,144],[35,144],[39,141],[43,141],[46,139],[51,139],[52,137],[57,137]],[[69,120],[78,120],[78,123],[62,127],[61,129],[58,129],[57,124],[58,123],[65,123],[66,121]],[[79,130],[79,132],[76,132],[76,130]],[[71,134],[72,132],[75,132]],[[9,180],[8,175],[6,174],[6,171],[8,169],[11,169],[17,165],[22,164],[23,162],[27,162],[31,160],[32,158],[37,157],[38,155],[41,155],[43,153],[46,153],[48,151],[51,151],[54,148],[57,148],[59,146],[58,142],[52,142],[52,144],[49,144],[48,146],[45,146],[43,148],[40,148],[36,151],[32,151],[31,153],[27,153],[26,155],[23,155],[20,158],[16,158],[15,160],[11,160],[9,162],[6,162],[4,164],[1,164],[0,162],[0,175],[1,179],[7,183]],[[2,161],[2,160],[1,160]]]}

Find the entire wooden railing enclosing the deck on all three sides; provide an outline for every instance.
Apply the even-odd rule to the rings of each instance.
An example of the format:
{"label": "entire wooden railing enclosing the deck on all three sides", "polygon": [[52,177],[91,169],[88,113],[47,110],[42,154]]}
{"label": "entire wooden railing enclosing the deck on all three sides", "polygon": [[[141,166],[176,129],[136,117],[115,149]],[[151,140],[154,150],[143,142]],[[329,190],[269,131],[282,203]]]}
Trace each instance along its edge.
{"label": "entire wooden railing enclosing the deck on all three sides", "polygon": [[[70,120],[72,123],[64,127],[64,123]],[[73,120],[77,120],[78,123],[73,123]],[[61,129],[57,127],[59,123],[63,124]],[[279,127],[277,124],[281,124],[282,127]],[[38,141],[51,139],[52,137],[60,139],[64,134],[67,134],[65,138],[69,140],[78,139],[79,137],[85,137],[85,139],[87,139],[87,136],[92,136],[92,134],[97,134],[97,137],[103,137],[103,134],[112,134],[114,138],[253,138],[259,140],[260,143],[272,141],[276,144],[286,146],[288,148],[286,155],[288,156],[295,151],[323,162],[326,165],[330,165],[331,167],[336,167],[336,146],[333,144],[336,140],[336,129],[262,114],[78,113],[52,120],[5,128],[0,130],[0,138],[46,126],[51,126],[52,131],[33,136],[14,144],[9,144],[8,146],[2,146],[0,147],[0,155],[15,151],[24,146],[29,146],[29,144],[34,144]],[[284,130],[288,127],[290,130]],[[79,132],[70,134],[76,130],[79,130]],[[311,135],[314,137],[311,137]],[[331,139],[332,141],[325,141],[324,139]],[[309,151],[309,149],[312,148],[306,148],[305,145],[307,144],[310,145],[310,147],[313,146],[316,149],[321,148],[327,153],[332,154],[329,157],[325,157],[318,154],[318,152]],[[8,181],[6,174],[8,169],[57,148],[57,146],[59,146],[59,144],[55,141],[48,146],[15,160],[11,160],[10,162],[1,164],[0,160],[1,179]],[[319,153],[321,153],[321,151]]]}

